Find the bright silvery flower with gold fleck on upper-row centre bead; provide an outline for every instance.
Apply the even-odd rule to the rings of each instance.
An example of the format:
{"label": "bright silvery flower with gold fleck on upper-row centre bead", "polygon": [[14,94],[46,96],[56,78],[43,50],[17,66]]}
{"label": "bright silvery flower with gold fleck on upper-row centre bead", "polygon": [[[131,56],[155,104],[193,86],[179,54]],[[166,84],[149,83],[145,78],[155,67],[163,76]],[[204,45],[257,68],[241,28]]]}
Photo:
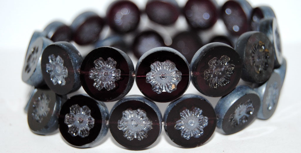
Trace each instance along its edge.
{"label": "bright silvery flower with gold fleck on upper-row centre bead", "polygon": [[146,74],[146,82],[150,83],[154,92],[171,93],[177,89],[182,79],[182,73],[175,67],[175,63],[166,60],[151,64],[151,71]]}

